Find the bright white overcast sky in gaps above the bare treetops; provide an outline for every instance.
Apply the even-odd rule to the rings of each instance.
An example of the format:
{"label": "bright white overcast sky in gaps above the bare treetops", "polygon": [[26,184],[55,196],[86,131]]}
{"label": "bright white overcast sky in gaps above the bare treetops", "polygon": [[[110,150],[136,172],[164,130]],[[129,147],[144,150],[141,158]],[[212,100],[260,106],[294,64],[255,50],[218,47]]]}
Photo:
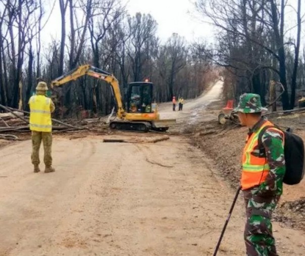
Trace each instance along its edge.
{"label": "bright white overcast sky in gaps above the bare treetops", "polygon": [[[158,36],[166,41],[173,33],[184,36],[188,41],[204,37],[210,41],[213,33],[209,25],[203,24],[194,18],[194,6],[192,0],[121,0],[131,16],[137,12],[150,14],[158,23]],[[52,9],[54,1],[49,1],[48,10]],[[67,19],[67,25],[69,19]],[[61,15],[58,1],[55,8],[42,31],[45,41],[50,35],[60,40]]]}

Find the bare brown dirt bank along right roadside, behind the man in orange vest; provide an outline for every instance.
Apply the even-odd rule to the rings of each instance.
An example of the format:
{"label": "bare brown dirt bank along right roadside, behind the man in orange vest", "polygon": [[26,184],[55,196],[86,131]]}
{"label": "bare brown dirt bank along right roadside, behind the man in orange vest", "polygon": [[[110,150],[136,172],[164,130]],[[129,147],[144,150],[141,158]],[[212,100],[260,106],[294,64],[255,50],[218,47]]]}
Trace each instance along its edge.
{"label": "bare brown dirt bank along right roadside, behind the man in orange vest", "polygon": [[[271,119],[274,123],[277,120]],[[305,141],[305,131],[289,122],[281,119],[281,124],[289,125],[295,129],[295,133]],[[201,148],[208,157],[213,159],[218,167],[218,174],[229,184],[237,188],[240,184],[241,152],[246,139],[247,128],[227,123],[225,126],[218,122],[210,121],[187,127],[186,132],[191,137],[192,143]],[[274,214],[276,221],[297,229],[305,230],[305,180],[298,185],[284,185],[284,194]]]}

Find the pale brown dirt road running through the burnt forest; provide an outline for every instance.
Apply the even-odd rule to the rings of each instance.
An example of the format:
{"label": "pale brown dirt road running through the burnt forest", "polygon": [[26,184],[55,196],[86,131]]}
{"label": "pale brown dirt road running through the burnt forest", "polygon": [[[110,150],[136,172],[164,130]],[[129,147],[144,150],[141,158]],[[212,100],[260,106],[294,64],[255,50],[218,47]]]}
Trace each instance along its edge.
{"label": "pale brown dirt road running through the burnt forest", "polygon": [[[212,255],[234,196],[214,163],[183,136],[102,141],[55,137],[49,174],[32,172],[30,141],[0,149],[0,255]],[[219,255],[245,255],[243,225],[239,198]],[[303,255],[303,233],[274,230],[280,255]]]}

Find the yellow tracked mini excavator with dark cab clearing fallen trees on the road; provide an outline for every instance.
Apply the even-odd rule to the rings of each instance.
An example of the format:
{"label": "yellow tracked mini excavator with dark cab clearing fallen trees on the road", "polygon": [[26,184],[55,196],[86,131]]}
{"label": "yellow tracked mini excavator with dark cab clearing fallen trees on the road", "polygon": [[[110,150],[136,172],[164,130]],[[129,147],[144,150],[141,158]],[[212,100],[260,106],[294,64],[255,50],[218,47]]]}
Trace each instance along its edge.
{"label": "yellow tracked mini excavator with dark cab clearing fallen trees on the road", "polygon": [[134,130],[147,132],[148,130],[167,131],[175,119],[160,120],[158,106],[152,103],[154,84],[150,82],[132,82],[127,86],[127,100],[125,111],[118,80],[110,73],[90,65],[79,66],[51,82],[51,86],[61,86],[82,76],[91,76],[108,82],[111,85],[117,104],[119,120],[110,122],[111,129]]}

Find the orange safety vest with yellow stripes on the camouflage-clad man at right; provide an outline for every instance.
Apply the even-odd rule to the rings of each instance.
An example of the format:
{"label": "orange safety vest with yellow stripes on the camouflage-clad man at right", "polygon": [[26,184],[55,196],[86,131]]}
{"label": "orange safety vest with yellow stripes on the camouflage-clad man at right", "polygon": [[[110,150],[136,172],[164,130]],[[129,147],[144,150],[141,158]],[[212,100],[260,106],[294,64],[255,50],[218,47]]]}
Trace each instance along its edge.
{"label": "orange safety vest with yellow stripes on the camouflage-clad man at right", "polygon": [[[270,167],[267,163],[267,159],[264,157],[259,158],[253,155],[255,148],[258,150],[259,134],[266,126],[274,125],[271,122],[266,121],[258,131],[253,132],[250,136],[247,137],[246,145],[243,149],[242,155],[242,190],[260,185],[266,180],[266,177],[269,174]],[[284,134],[282,136],[284,136]]]}

